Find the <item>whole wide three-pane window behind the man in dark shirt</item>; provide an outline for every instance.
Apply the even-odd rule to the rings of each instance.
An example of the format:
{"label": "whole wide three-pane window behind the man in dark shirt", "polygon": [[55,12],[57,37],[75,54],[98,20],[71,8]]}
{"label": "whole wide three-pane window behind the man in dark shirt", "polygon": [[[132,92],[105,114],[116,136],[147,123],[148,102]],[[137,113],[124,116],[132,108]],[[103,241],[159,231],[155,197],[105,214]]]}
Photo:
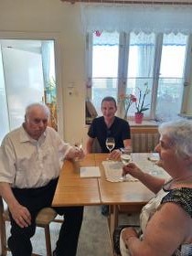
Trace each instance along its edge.
{"label": "whole wide three-pane window behind the man in dark shirt", "polygon": [[[138,97],[138,88],[147,84],[150,93],[145,103],[146,119],[175,119],[181,112],[185,83],[188,37],[176,35],[99,32],[89,34],[88,79],[91,98],[101,114],[101,99],[113,96],[117,101],[122,93]],[[167,112],[167,109],[169,110]],[[134,105],[128,114],[133,116]]]}

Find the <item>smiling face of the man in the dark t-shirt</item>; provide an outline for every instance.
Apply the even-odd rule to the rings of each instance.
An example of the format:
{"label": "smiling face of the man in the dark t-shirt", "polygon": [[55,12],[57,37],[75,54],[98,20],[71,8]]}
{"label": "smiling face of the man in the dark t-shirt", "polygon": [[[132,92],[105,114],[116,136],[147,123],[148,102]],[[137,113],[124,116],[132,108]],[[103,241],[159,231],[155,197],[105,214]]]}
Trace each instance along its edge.
{"label": "smiling face of the man in the dark t-shirt", "polygon": [[105,121],[112,121],[116,111],[117,107],[113,101],[102,101],[101,112]]}

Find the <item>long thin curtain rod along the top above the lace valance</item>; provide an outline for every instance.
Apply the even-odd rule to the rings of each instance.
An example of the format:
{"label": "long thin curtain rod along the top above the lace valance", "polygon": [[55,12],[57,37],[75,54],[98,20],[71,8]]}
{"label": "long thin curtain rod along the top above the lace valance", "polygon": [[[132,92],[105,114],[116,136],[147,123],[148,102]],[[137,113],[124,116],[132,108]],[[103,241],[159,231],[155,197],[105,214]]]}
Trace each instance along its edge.
{"label": "long thin curtain rod along the top above the lace valance", "polygon": [[60,0],[61,2],[75,3],[101,3],[101,4],[136,4],[136,5],[192,5],[192,2],[172,1],[137,1],[137,0]]}

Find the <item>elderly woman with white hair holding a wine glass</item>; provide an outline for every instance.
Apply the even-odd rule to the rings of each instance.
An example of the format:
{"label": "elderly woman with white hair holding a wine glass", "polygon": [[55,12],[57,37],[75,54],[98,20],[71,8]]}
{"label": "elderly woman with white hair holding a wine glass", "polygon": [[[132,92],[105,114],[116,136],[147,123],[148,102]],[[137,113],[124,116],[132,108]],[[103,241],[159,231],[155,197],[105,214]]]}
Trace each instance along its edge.
{"label": "elderly woman with white hair holding a wine glass", "polygon": [[171,179],[146,174],[134,163],[123,167],[123,175],[138,178],[155,193],[140,215],[142,235],[133,227],[121,230],[123,256],[192,255],[192,122],[163,123],[159,133],[158,165]]}

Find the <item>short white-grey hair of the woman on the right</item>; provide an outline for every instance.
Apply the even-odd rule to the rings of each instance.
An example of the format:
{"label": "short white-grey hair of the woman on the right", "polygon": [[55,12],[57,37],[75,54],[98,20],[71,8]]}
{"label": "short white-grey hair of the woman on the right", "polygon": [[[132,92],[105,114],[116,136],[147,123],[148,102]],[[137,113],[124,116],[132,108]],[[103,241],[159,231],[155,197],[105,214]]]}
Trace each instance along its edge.
{"label": "short white-grey hair of the woman on the right", "polygon": [[192,156],[192,121],[180,120],[162,123],[158,131],[171,140],[171,143],[176,146],[178,155]]}

